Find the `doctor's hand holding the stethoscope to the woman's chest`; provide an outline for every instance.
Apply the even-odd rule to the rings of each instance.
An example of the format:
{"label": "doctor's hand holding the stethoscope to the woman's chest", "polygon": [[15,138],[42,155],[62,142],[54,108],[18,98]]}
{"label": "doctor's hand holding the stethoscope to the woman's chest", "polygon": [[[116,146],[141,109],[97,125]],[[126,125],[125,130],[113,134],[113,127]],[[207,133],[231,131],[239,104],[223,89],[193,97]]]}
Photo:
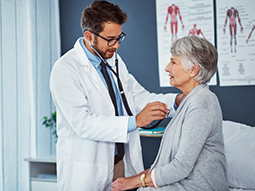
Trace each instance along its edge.
{"label": "doctor's hand holding the stethoscope to the woman's chest", "polygon": [[164,119],[168,112],[167,105],[156,101],[148,103],[143,110],[136,115],[136,126],[145,127],[154,120]]}

